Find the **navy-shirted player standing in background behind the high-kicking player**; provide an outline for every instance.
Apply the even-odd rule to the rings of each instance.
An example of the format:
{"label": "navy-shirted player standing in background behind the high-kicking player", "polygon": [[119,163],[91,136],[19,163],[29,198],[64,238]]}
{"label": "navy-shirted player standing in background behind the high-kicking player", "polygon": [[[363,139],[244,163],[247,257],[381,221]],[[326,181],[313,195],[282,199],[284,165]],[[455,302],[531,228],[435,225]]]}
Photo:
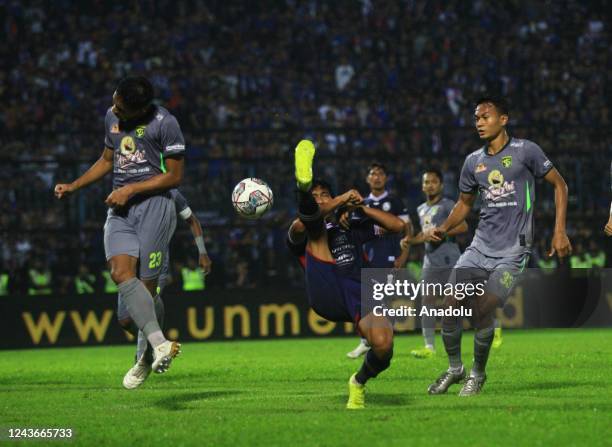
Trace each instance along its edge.
{"label": "navy-shirted player standing in background behind the high-kicking player", "polygon": [[[393,197],[387,191],[387,168],[381,163],[372,163],[368,167],[366,182],[370,186],[370,195],[366,197],[364,204],[371,208],[386,211],[398,216],[404,221],[404,234],[412,234],[412,225],[408,216],[408,209],[402,201]],[[371,268],[402,268],[408,261],[408,250],[400,249],[399,241],[401,235],[385,234],[382,228],[376,227],[381,237],[377,237],[364,246]],[[365,338],[359,345],[346,356],[356,359],[368,352],[370,346]]]}

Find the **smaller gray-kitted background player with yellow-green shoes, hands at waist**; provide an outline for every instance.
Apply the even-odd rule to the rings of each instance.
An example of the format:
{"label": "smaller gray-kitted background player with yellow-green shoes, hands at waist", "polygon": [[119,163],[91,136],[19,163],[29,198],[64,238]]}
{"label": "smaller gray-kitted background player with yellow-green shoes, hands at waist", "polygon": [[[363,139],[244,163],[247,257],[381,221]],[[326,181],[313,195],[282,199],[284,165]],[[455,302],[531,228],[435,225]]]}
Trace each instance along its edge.
{"label": "smaller gray-kitted background player with yellow-green shoes, hands at waist", "polygon": [[[425,244],[425,257],[423,259],[423,281],[432,284],[444,284],[450,276],[451,269],[461,256],[459,246],[453,236],[465,233],[468,229],[465,221],[448,232],[447,238],[436,243],[432,241],[429,230],[441,225],[455,202],[442,196],[444,186],[442,172],[437,168],[427,169],[423,173],[423,193],[427,200],[417,207],[421,232],[416,236],[405,236],[401,245],[405,250],[411,245]],[[435,305],[438,297],[434,295],[423,295],[422,306],[431,308]],[[425,347],[414,349],[411,354],[419,359],[431,358],[435,350],[435,325],[436,318],[428,314],[421,317],[421,330],[425,339]]]}

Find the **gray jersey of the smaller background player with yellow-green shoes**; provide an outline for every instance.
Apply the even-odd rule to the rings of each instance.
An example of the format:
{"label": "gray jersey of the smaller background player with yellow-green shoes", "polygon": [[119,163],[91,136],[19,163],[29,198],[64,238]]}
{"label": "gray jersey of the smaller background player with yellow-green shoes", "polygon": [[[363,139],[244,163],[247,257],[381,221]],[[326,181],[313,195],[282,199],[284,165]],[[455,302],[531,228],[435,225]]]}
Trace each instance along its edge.
{"label": "gray jersey of the smaller background player with yellow-green shoes", "polygon": [[[445,197],[431,206],[427,202],[420,204],[417,213],[419,214],[421,231],[427,231],[430,228],[442,225],[454,206],[455,202]],[[459,256],[461,256],[461,251],[452,238],[441,244],[425,242],[425,262],[423,266],[452,267]]]}

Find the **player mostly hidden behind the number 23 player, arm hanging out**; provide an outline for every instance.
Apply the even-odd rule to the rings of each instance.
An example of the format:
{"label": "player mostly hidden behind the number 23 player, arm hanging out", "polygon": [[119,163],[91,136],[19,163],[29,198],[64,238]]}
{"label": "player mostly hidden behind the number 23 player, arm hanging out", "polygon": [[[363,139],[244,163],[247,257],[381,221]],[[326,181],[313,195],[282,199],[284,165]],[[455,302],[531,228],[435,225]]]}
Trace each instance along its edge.
{"label": "player mostly hidden behind the number 23 player, arm hanging out", "polygon": [[[191,230],[195,245],[198,249],[199,259],[198,263],[202,269],[202,274],[208,275],[211,271],[212,261],[208,257],[206,251],[206,245],[204,244],[204,233],[202,232],[202,225],[199,219],[193,213],[189,207],[189,203],[185,196],[183,196],[178,189],[170,190],[170,194],[176,205],[177,214],[183,219]],[[163,329],[164,327],[164,302],[162,301],[162,293],[165,285],[168,281],[170,274],[170,257],[169,255],[164,256],[164,264],[162,267],[161,274],[159,276],[157,294],[153,297],[155,300],[155,315],[159,326]],[[121,294],[118,294],[117,300],[117,319],[123,329],[130,334],[137,336],[136,342],[136,362],[129,371],[123,377],[123,387],[131,390],[139,387],[144,383],[145,380],[151,374],[151,363],[153,362],[152,353],[153,350],[149,348],[149,343],[144,333],[138,330],[130,318],[125,300]]]}

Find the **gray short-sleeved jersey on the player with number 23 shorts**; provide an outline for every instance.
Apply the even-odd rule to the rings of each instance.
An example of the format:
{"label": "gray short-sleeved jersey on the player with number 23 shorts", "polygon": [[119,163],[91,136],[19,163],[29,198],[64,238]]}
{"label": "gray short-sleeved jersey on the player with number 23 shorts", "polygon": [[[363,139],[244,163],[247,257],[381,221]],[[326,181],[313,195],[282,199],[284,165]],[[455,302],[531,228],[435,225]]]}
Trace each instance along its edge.
{"label": "gray short-sleeved jersey on the player with number 23 shorts", "polygon": [[104,125],[104,145],[115,153],[113,188],[166,172],[164,158],[185,152],[181,128],[163,107],[157,106],[146,124],[129,131],[121,129],[119,119],[108,109]]}

